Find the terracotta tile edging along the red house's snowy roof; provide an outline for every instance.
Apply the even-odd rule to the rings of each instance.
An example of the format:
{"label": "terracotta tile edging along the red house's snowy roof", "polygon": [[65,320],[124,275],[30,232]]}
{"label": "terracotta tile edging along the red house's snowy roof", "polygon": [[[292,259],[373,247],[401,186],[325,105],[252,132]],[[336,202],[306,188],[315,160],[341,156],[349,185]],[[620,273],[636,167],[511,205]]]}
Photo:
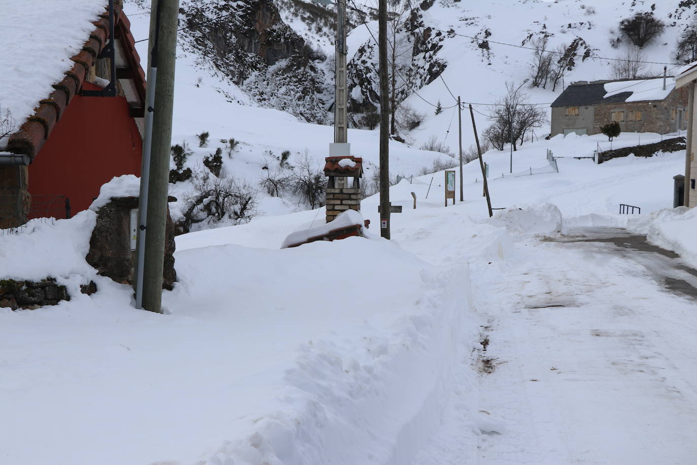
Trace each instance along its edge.
{"label": "terracotta tile edging along the red house's snowy roof", "polygon": [[[126,59],[130,70],[120,70],[118,77],[132,79],[135,91],[141,100],[140,107],[144,107],[145,101],[145,73],[140,66],[140,59],[135,51],[135,40],[130,33],[130,22],[123,13],[123,0],[114,0],[114,31],[116,36],[122,38],[125,49]],[[70,100],[82,89],[89,69],[97,60],[97,56],[107,44],[109,38],[109,13],[105,11],[100,19],[93,23],[95,29],[86,37],[82,50],[70,59],[75,65],[65,73],[63,79],[54,84],[54,91],[45,99],[37,102],[37,107],[33,115],[29,116],[26,123],[22,124],[20,130],[11,135],[7,148],[12,153],[29,155],[30,160],[36,157],[43,144],[48,139],[56,123],[61,119],[61,114],[66,110]],[[119,70],[117,70],[118,72]],[[129,72],[130,71],[130,72]],[[123,74],[123,75],[119,75]],[[20,89],[17,89],[20,91]],[[132,108],[132,116],[134,114]],[[142,109],[140,109],[142,111]],[[95,116],[97,117],[97,116]]]}

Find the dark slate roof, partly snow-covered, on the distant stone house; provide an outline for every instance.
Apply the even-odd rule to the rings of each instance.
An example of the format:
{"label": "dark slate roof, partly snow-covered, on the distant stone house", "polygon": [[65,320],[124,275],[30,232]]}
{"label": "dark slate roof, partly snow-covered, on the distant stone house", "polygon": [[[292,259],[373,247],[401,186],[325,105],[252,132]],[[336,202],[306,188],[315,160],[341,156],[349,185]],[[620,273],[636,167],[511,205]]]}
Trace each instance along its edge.
{"label": "dark slate roof, partly snow-covered, on the distant stone house", "polygon": [[552,107],[600,105],[604,103],[664,100],[675,89],[675,81],[663,77],[634,81],[579,82],[569,85],[552,103]]}

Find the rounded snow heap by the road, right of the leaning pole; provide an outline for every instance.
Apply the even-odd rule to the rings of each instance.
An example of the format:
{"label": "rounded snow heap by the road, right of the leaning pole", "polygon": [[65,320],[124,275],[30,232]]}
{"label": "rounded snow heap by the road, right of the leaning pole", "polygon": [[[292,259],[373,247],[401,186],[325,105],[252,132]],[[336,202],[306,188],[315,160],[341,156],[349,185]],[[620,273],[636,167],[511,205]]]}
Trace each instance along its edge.
{"label": "rounded snow heap by the road, right of the leaning pole", "polygon": [[525,204],[494,213],[489,222],[514,234],[546,236],[562,230],[562,213],[554,204]]}

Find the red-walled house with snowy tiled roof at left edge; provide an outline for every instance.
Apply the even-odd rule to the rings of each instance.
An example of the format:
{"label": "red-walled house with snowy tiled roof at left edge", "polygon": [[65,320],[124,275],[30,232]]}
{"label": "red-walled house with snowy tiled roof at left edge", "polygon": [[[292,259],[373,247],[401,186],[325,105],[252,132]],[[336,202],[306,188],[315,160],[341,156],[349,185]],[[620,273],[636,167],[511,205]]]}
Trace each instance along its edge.
{"label": "red-walled house with snowy tiled roof at left edge", "polygon": [[[69,22],[71,15],[95,15],[95,21],[93,30],[84,33],[84,43],[67,34],[56,38],[54,31],[47,30],[52,34],[52,50],[58,49],[54,45],[60,45],[62,51],[79,50],[72,57],[72,52],[56,57],[69,63],[65,73],[47,73],[44,63],[32,56],[21,63],[0,57],[5,82],[40,76],[32,79],[33,85],[52,89],[36,101],[33,114],[14,122],[9,135],[1,137],[0,131],[0,228],[18,226],[31,218],[68,218],[88,208],[100,186],[114,176],[139,176],[145,74],[122,8],[123,0],[81,1],[66,7],[62,21]],[[38,26],[38,30],[17,47],[26,54],[45,54],[41,14],[34,16],[36,24],[26,27]],[[0,29],[13,21],[17,18],[12,10],[0,15]],[[80,24],[83,22],[89,24],[89,20]],[[26,84],[7,87],[0,89],[3,112],[7,107],[3,96],[12,100],[13,93],[27,91]]]}

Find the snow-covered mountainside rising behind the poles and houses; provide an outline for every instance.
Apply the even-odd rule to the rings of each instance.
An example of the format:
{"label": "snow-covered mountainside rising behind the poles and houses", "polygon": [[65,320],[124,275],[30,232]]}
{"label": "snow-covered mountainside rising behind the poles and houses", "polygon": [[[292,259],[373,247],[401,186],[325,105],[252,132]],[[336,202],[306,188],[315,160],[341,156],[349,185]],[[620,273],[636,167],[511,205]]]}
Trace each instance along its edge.
{"label": "snow-covered mountainside rising behind the poles and houses", "polygon": [[[180,38],[172,144],[183,145],[186,142],[191,149],[191,155],[179,171],[192,169],[193,177],[172,185],[171,192],[179,199],[173,206],[173,213],[175,218],[184,215],[190,205],[185,199],[191,197],[192,192],[196,192],[202,184],[210,181],[205,179],[206,176],[210,178],[210,175],[204,167],[204,160],[208,158],[207,163],[210,163],[216,153],[221,155],[217,166],[222,167],[223,173],[233,176],[244,192],[256,190],[257,194],[252,202],[254,208],[240,215],[242,218],[215,224],[193,224],[191,230],[245,222],[250,216],[260,214],[289,213],[312,208],[311,201],[302,199],[302,196],[290,192],[290,189],[282,197],[270,196],[268,192],[264,192],[261,183],[274,176],[292,176],[291,171],[297,173],[301,167],[309,167],[309,174],[316,172],[321,169],[323,158],[327,155],[327,144],[332,142],[332,128],[329,125],[299,121],[330,122],[332,117],[331,112],[326,111],[332,104],[333,96],[330,63],[333,45],[332,33],[328,31],[333,24],[332,16],[327,15],[327,7],[302,1],[281,1],[276,4],[250,0],[233,3],[227,0],[183,3],[187,13],[182,21],[193,26],[182,31]],[[125,5],[137,40],[147,36],[149,14],[145,7],[146,3],[142,1],[127,2]],[[376,5],[369,3],[360,3],[358,10],[352,10],[350,18],[354,27],[348,37],[348,74],[352,89],[351,106],[358,112],[371,111],[370,108],[376,102],[376,50],[372,37],[376,35],[377,29],[376,22],[372,20],[375,7]],[[400,132],[410,144],[394,140],[390,142],[392,178],[395,179],[398,175],[418,175],[424,168],[434,167],[434,160],[452,163],[447,155],[420,151],[418,147],[431,137],[436,137],[452,153],[457,153],[457,115],[456,109],[452,108],[453,96],[461,96],[464,102],[475,103],[477,128],[482,132],[489,123],[486,115],[489,114],[490,107],[485,104],[495,102],[505,93],[506,82],[519,84],[530,77],[529,63],[534,52],[525,47],[533,47],[536,40],[546,38],[546,49],[557,49],[564,45],[567,51],[572,47],[576,53],[587,56],[585,59],[574,59],[573,66],[565,70],[555,90],[552,90],[552,84],[547,85],[546,89],[526,88],[530,93],[530,102],[539,103],[546,109],[564,84],[581,79],[602,79],[611,75],[613,61],[610,59],[626,54],[627,39],[618,40],[618,21],[623,17],[651,11],[655,17],[663,20],[666,23],[665,31],[659,40],[642,49],[643,55],[646,61],[672,63],[675,41],[691,21],[691,8],[694,7],[677,0],[657,5],[648,1],[581,3],[570,0],[421,3],[411,15],[402,17],[403,27],[396,32],[401,46],[406,49],[411,47],[411,51],[404,53],[406,62],[400,62],[397,70],[410,84],[404,84],[401,77],[396,84],[398,98],[399,95],[408,94],[405,105],[422,113],[423,121],[411,131]],[[361,13],[362,11],[365,13]],[[493,11],[496,11],[496,15],[492,14]],[[210,27],[197,24],[219,24],[211,20],[220,15],[227,18],[223,20],[223,24],[229,25],[231,33],[225,36],[222,43],[211,45],[210,38],[213,36],[210,34],[218,31],[215,27],[219,26],[210,26],[215,29],[211,32]],[[281,28],[279,33],[282,33],[282,37],[273,47],[282,47],[279,44],[287,43],[290,44],[287,47],[291,49],[286,52],[279,49],[273,53],[302,55],[305,64],[296,68],[302,70],[302,73],[309,72],[312,79],[319,79],[312,80],[312,86],[316,89],[300,89],[296,86],[298,83],[309,82],[309,78],[302,77],[297,70],[290,70],[286,66],[287,60],[293,61],[292,56],[296,55],[289,55],[291,58],[278,61],[272,66],[262,66],[256,61],[252,66],[253,63],[245,58],[247,55],[229,54],[232,53],[231,50],[249,45],[240,43],[242,36],[236,36],[235,31],[252,27],[249,26],[249,21],[253,19],[253,15],[261,15],[259,17],[263,21],[277,24],[274,27]],[[364,21],[367,24],[362,24]],[[395,24],[399,24],[399,21]],[[219,32],[224,31],[223,28]],[[251,34],[254,36],[255,33],[252,31]],[[146,43],[137,43],[144,67]],[[659,75],[662,68],[661,64],[647,64],[643,71],[645,74]],[[673,68],[675,66],[668,66],[668,74],[671,74]],[[232,69],[236,71],[232,73]],[[232,75],[226,74],[228,72]],[[274,77],[274,73],[279,75]],[[296,84],[284,84],[283,79],[294,79]],[[279,86],[286,90],[279,91]],[[286,91],[289,92],[287,95],[284,93]],[[418,92],[418,95],[412,91]],[[291,100],[298,102],[302,108],[290,107],[281,102],[291,101],[288,100],[289,96],[296,96]],[[435,108],[430,105],[436,102],[441,102],[445,108],[437,115],[434,114]],[[317,112],[325,114],[327,118],[317,116]],[[309,114],[317,117],[308,116]],[[355,114],[355,118],[360,119],[363,117],[361,115],[365,116]],[[466,149],[473,144],[473,132],[468,114],[463,116],[463,146]],[[544,136],[545,130],[546,128],[541,128],[537,135]],[[209,133],[208,144],[199,147],[197,135],[203,132]],[[353,129],[348,135],[352,154],[366,160],[364,185],[368,195],[376,190],[372,178],[377,171],[377,138],[378,130]],[[583,155],[590,155],[592,144],[583,145],[588,148]],[[219,149],[220,152],[217,152]],[[289,159],[283,161],[282,154],[286,151],[289,152]],[[525,156],[522,152],[514,154],[514,158],[522,165],[526,164]],[[176,168],[174,162],[171,168]]]}

